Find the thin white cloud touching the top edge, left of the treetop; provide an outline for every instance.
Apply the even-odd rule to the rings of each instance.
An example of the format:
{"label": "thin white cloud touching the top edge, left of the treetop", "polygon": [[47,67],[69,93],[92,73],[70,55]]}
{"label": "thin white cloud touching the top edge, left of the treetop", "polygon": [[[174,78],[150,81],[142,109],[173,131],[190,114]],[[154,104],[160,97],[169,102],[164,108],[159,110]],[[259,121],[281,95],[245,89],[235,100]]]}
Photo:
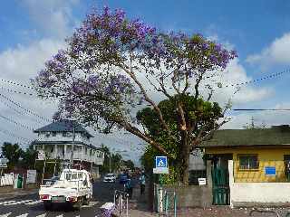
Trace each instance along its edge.
{"label": "thin white cloud touching the top edge, left of the treetop", "polygon": [[78,0],[24,0],[30,18],[46,35],[64,38],[72,33],[75,24],[72,7]]}

